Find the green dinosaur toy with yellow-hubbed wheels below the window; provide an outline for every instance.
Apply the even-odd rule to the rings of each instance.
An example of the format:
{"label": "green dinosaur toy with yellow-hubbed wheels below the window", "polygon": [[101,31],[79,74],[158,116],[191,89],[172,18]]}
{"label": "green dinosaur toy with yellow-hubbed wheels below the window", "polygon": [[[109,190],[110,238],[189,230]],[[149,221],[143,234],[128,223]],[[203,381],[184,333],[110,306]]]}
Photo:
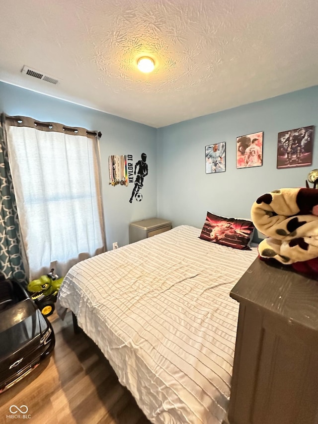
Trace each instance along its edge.
{"label": "green dinosaur toy with yellow-hubbed wheels below the window", "polygon": [[27,290],[31,294],[32,300],[37,304],[43,315],[52,315],[55,309],[57,294],[64,277],[58,278],[54,274],[54,268],[47,275],[32,280],[27,285]]}

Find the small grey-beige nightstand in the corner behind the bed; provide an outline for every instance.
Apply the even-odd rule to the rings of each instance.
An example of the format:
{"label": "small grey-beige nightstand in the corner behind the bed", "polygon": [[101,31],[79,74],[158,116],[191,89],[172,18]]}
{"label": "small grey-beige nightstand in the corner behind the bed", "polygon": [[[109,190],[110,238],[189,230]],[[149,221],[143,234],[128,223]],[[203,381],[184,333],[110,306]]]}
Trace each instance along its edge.
{"label": "small grey-beige nightstand in the corner behind the bed", "polygon": [[129,243],[135,243],[148,237],[171,230],[171,221],[161,218],[142,219],[129,224]]}

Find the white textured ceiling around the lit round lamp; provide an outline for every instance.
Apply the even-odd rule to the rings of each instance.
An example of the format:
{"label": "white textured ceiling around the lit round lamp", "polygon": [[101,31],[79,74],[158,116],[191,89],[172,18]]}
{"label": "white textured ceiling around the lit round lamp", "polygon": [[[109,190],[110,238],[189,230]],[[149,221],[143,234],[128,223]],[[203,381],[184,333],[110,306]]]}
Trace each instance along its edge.
{"label": "white textured ceiling around the lit round lamp", "polygon": [[158,128],[317,85],[317,20],[317,0],[2,1],[0,81]]}

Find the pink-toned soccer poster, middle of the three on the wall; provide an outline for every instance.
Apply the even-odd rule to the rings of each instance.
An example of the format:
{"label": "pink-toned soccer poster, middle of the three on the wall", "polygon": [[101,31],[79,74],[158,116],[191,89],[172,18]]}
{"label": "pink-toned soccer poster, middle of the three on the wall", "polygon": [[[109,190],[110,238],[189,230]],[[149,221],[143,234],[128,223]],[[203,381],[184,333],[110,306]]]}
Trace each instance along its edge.
{"label": "pink-toned soccer poster, middle of the three on the wall", "polygon": [[237,169],[263,165],[263,132],[237,137]]}

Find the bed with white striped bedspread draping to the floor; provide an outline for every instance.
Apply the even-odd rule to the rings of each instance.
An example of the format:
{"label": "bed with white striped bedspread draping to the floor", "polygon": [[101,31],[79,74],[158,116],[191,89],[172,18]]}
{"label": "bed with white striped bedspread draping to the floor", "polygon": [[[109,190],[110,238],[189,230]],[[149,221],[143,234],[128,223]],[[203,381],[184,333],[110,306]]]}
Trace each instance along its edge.
{"label": "bed with white striped bedspread draping to the floor", "polygon": [[257,256],[182,225],[71,268],[57,310],[77,317],[153,423],[222,423],[239,305],[233,286]]}

